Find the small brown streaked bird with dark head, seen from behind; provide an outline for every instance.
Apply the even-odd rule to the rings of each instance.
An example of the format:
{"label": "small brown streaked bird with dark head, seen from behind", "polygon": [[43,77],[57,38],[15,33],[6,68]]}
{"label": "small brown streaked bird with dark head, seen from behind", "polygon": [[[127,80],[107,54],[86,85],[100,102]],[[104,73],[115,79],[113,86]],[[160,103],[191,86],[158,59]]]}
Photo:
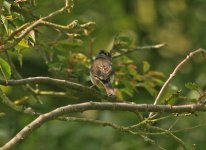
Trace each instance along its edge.
{"label": "small brown streaked bird with dark head, seen from behind", "polygon": [[99,82],[101,82],[108,96],[115,95],[114,88],[111,84],[113,74],[111,54],[100,50],[90,68],[90,78],[93,85],[98,85]]}

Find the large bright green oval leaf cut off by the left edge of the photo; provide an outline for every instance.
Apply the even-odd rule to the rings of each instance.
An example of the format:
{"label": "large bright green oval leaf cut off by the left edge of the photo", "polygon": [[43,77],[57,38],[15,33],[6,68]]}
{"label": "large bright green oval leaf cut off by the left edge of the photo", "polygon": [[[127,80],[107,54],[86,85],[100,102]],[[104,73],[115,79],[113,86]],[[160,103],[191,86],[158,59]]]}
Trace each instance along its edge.
{"label": "large bright green oval leaf cut off by the left edge of the photo", "polygon": [[11,68],[9,64],[2,58],[0,58],[0,79],[8,80],[11,76]]}

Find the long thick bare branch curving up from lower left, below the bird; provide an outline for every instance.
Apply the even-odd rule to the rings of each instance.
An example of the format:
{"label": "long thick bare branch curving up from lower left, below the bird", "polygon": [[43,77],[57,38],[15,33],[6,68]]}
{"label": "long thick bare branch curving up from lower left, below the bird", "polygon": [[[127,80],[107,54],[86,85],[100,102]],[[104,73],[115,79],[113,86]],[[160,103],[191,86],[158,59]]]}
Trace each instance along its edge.
{"label": "long thick bare branch curving up from lower left, below the bird", "polygon": [[134,104],[134,103],[110,103],[110,102],[85,102],[74,105],[59,107],[51,112],[37,117],[34,121],[25,126],[9,142],[0,147],[0,150],[7,150],[14,147],[17,143],[31,134],[36,128],[40,127],[49,120],[53,120],[61,115],[71,112],[83,112],[86,110],[115,110],[115,111],[144,111],[144,112],[170,112],[170,113],[193,113],[195,111],[206,111],[206,106],[201,104],[190,104],[180,106],[153,105],[153,104]]}

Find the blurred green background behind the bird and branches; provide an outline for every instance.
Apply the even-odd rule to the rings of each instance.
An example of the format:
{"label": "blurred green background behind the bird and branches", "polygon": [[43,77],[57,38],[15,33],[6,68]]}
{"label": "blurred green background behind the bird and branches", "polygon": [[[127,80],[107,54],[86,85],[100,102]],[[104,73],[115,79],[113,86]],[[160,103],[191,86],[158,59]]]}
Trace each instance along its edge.
{"label": "blurred green background behind the bird and branches", "polygon": [[[24,5],[24,2],[21,5]],[[31,9],[33,15],[39,17],[48,15],[63,5],[63,1],[36,0],[35,7],[30,3],[26,3],[24,7]],[[24,17],[23,22],[34,20],[29,13],[20,14]],[[88,68],[91,58],[100,49],[109,51],[117,35],[129,37],[129,48],[166,43],[167,46],[160,49],[137,51],[114,60],[114,68],[117,72],[114,86],[118,90],[119,99],[136,103],[153,103],[155,94],[174,67],[190,51],[200,47],[206,48],[205,0],[74,0],[74,8],[70,14],[62,13],[49,19],[62,25],[67,25],[73,20],[79,20],[81,23],[94,21],[96,27],[89,36],[81,36],[77,39],[69,39],[66,34],[47,27],[38,27],[35,46],[21,48],[19,50],[21,52],[17,47],[10,52],[23,77],[50,76],[90,86]],[[4,57],[3,54],[1,55]],[[149,67],[150,72],[143,71],[146,66]],[[72,71],[69,72],[70,70]],[[137,70],[138,73],[133,75],[133,70]],[[159,76],[150,76],[154,72]],[[205,60],[201,55],[195,56],[177,73],[167,94],[171,94],[172,90],[182,90],[183,95],[194,98],[197,93],[185,88],[185,83],[195,82],[204,91],[205,72]],[[131,81],[134,81],[135,85]],[[62,91],[61,87],[51,87],[51,85],[39,85],[39,87],[42,90]],[[29,95],[19,87],[2,88],[13,101]],[[74,98],[42,96],[40,97],[43,101],[42,105],[37,104],[32,98],[24,105],[32,106],[38,112],[48,112],[69,103],[93,100],[84,95],[76,97],[77,91],[66,90],[66,92],[74,95]],[[178,104],[176,101],[173,103]],[[0,145],[35,118],[17,113],[4,104],[0,105],[0,112],[6,113],[5,116],[0,117]],[[71,116],[112,121],[125,126],[138,122],[134,114],[126,112],[87,111]],[[197,116],[172,117],[155,125],[169,128],[179,118],[174,127],[178,130],[204,124],[205,117],[204,113],[198,113]],[[204,131],[205,127],[200,127],[178,132],[177,136],[190,146],[195,144],[195,148],[199,150],[206,146]],[[167,135],[150,137],[166,149],[181,149],[180,145]],[[44,124],[14,149],[43,150],[45,148],[48,150],[159,149],[138,135],[130,135],[110,127],[63,121]]]}

